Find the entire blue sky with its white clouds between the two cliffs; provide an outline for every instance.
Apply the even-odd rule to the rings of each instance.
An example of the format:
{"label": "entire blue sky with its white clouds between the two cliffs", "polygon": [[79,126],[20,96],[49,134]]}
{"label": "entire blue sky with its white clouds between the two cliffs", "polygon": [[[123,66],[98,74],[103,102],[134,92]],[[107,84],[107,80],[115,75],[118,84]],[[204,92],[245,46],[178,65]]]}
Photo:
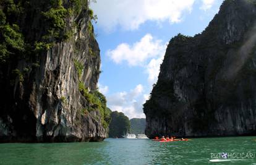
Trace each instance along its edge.
{"label": "entire blue sky with its white clouds between the two cliffs", "polygon": [[101,50],[99,89],[112,111],[145,117],[167,43],[178,33],[202,32],[222,0],[98,0],[90,4]]}

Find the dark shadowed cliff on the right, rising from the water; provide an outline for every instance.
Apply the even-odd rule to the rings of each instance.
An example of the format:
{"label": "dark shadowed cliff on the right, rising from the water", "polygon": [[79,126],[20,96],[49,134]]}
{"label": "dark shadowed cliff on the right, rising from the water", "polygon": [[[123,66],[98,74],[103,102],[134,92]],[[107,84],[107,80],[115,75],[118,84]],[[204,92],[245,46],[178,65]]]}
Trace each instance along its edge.
{"label": "dark shadowed cliff on the right, rising from the water", "polygon": [[143,108],[148,136],[256,135],[255,21],[255,0],[226,0],[201,34],[169,41]]}

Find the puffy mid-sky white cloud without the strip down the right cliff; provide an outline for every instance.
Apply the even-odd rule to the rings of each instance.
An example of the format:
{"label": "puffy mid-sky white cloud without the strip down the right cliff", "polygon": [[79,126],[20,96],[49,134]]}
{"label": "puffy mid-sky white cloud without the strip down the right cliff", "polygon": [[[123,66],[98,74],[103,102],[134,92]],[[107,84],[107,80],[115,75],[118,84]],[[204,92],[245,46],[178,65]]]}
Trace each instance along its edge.
{"label": "puffy mid-sky white cloud without the strip down the right cliff", "polygon": [[155,40],[151,34],[147,34],[132,45],[119,44],[114,50],[108,50],[107,55],[116,64],[127,61],[129,66],[143,66],[147,59],[161,56],[165,48],[161,40]]}

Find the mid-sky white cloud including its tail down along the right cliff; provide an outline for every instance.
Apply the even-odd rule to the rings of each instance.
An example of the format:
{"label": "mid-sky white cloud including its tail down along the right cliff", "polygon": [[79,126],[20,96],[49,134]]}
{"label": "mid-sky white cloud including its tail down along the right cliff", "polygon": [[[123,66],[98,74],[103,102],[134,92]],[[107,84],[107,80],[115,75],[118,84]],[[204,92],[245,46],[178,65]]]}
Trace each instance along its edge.
{"label": "mid-sky white cloud including its tail down along the right cliff", "polygon": [[148,82],[152,85],[158,77],[166,46],[167,43],[147,34],[133,44],[119,44],[115,49],[108,50],[107,55],[116,64],[143,67],[148,74]]}

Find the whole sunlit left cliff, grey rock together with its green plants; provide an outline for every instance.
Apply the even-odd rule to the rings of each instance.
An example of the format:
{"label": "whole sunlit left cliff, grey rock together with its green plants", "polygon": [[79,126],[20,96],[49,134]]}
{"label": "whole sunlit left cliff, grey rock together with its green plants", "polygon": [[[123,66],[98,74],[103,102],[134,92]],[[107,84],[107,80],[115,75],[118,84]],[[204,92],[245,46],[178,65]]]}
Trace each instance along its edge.
{"label": "whole sunlit left cliff, grey rock together with its green plants", "polygon": [[0,18],[0,142],[106,138],[88,2],[3,0]]}

